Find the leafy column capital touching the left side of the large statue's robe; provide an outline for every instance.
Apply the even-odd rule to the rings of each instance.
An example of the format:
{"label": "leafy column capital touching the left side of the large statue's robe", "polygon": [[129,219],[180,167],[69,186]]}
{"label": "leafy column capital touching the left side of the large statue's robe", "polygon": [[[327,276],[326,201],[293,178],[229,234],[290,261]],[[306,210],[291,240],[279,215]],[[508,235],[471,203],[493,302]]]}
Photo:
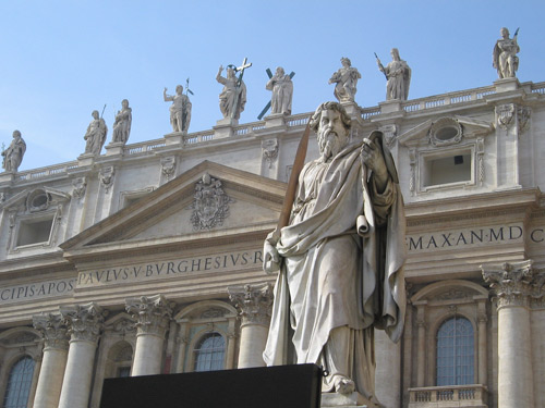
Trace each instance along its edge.
{"label": "leafy column capital touching the left side of the large statue's robe", "polygon": [[239,309],[242,324],[268,326],[272,305],[272,288],[269,283],[228,287],[231,302]]}

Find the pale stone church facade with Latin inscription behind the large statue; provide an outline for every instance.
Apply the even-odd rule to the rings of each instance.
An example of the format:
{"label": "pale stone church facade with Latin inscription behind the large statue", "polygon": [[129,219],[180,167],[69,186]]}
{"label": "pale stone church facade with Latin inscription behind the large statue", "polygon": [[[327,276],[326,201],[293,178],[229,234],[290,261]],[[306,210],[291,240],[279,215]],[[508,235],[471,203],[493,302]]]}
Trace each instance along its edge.
{"label": "pale stone church facade with Latin inscription behind the large statue", "polygon": [[[375,337],[378,398],[545,406],[545,83],[348,108],[353,140],[386,134],[408,217],[407,324],[399,344]],[[0,398],[23,356],[28,406],[51,408],[97,408],[105,378],[193,371],[207,338],[225,369],[263,366],[263,240],[308,116],[1,173]],[[440,385],[437,336],[453,318],[471,326],[472,381]]]}

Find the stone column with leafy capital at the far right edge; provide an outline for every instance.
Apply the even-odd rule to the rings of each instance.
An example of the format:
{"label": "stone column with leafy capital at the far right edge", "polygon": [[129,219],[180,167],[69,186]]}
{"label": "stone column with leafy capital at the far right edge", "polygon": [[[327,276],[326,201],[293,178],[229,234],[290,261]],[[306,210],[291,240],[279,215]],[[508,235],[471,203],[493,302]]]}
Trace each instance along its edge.
{"label": "stone column with leafy capital at the far right edge", "polygon": [[491,263],[481,269],[497,296],[498,407],[533,407],[529,312],[532,261]]}

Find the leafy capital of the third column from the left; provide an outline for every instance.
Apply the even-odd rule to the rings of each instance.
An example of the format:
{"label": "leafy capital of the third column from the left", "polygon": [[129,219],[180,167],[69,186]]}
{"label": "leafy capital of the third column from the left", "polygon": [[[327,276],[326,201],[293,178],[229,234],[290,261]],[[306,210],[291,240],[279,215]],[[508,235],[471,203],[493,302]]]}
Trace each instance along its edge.
{"label": "leafy capital of the third column from the left", "polygon": [[136,335],[152,334],[165,337],[169,321],[172,318],[172,307],[165,296],[141,296],[125,300],[126,312],[136,320]]}

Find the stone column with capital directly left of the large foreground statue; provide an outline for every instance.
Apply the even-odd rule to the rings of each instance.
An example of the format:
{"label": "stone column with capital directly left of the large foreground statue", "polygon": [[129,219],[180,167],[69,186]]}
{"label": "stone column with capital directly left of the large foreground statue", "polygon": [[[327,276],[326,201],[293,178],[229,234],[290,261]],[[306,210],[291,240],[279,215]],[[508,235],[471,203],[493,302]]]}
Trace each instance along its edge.
{"label": "stone column with capital directly left of the large foreground statue", "polygon": [[244,285],[228,288],[229,297],[241,317],[239,368],[264,367],[263,351],[270,322],[270,285]]}

